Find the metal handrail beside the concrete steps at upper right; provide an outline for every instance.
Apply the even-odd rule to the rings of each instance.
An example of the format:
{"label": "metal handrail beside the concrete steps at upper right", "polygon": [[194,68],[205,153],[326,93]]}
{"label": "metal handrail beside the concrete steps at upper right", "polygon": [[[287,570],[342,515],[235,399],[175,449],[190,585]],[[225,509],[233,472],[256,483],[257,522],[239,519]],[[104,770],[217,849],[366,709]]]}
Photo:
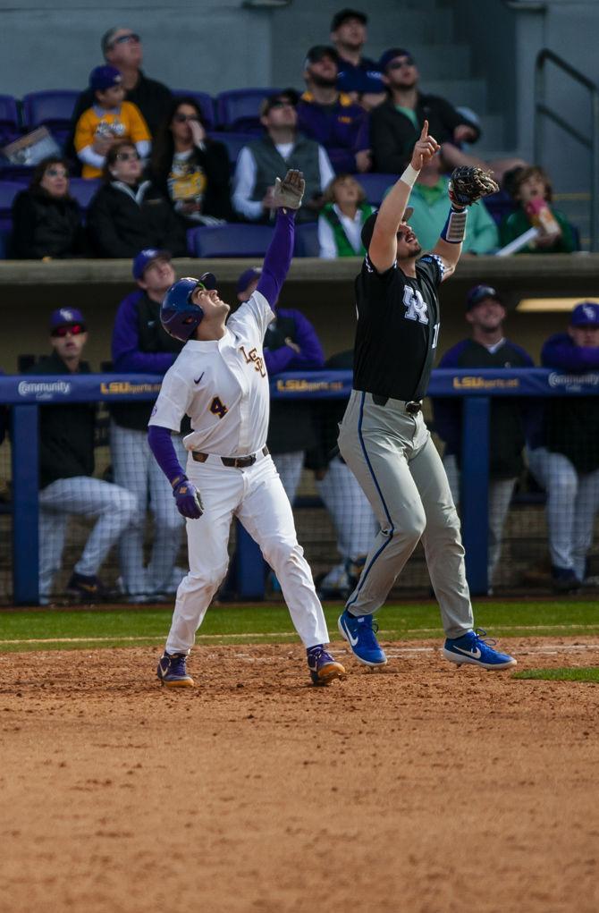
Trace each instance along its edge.
{"label": "metal handrail beside the concrete steps at upper right", "polygon": [[[591,95],[591,135],[588,136],[573,127],[545,101],[545,64],[552,63],[563,73],[578,82]],[[555,54],[548,47],[537,55],[534,68],[534,161],[541,163],[544,149],[544,123],[548,119],[580,142],[591,152],[591,250],[599,251],[599,87],[567,60]]]}

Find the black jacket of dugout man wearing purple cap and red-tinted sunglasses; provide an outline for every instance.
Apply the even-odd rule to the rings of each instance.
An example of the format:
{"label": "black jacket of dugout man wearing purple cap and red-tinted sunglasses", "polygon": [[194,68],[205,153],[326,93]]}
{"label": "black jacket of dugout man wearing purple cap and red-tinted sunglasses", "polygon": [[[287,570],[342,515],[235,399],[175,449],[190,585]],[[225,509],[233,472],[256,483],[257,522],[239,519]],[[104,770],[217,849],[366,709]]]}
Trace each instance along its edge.
{"label": "black jacket of dugout man wearing purple cap and red-tinted sunglasses", "polygon": [[[26,374],[68,374],[65,362],[52,352]],[[89,374],[88,362],[79,373]],[[91,476],[94,470],[96,404],[66,403],[39,407],[39,488],[57,478]]]}

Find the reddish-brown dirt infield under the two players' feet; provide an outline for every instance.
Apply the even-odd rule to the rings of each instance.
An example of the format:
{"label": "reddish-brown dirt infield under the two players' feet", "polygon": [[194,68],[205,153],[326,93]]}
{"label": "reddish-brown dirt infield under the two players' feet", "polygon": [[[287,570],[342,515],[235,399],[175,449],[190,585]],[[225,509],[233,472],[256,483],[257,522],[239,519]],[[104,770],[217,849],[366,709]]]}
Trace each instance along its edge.
{"label": "reddish-brown dirt infield under the two players' feet", "polygon": [[0,656],[0,908],[596,913],[599,688],[387,646],[328,688],[298,645],[198,648],[179,692],[154,649]]}

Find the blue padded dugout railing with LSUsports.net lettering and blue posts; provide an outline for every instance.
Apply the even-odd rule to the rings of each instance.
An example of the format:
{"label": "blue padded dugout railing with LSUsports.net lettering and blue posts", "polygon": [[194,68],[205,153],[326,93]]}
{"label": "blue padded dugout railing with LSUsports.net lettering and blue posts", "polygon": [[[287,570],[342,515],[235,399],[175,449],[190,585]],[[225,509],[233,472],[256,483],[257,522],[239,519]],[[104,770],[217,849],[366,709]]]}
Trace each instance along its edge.
{"label": "blue padded dugout railing with LSUsports.net lettering and blue posts", "polygon": [[[270,379],[273,399],[346,399],[351,372],[285,373]],[[0,404],[10,407],[13,602],[38,601],[38,431],[37,412],[44,404],[124,403],[152,400],[160,379],[146,374],[87,374],[0,377]],[[462,536],[468,583],[475,595],[489,590],[489,414],[496,396],[545,398],[594,396],[599,373],[568,375],[546,369],[447,370],[433,372],[432,397],[460,397],[462,403],[461,503]],[[257,545],[243,528],[236,536],[237,592],[241,598],[264,595],[265,576]]]}

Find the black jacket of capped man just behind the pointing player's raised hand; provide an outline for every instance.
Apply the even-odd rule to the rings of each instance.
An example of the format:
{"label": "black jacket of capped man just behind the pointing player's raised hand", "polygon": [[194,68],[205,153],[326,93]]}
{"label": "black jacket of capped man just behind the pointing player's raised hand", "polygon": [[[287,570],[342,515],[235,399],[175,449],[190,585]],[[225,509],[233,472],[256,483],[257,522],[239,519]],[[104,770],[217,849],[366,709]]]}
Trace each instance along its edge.
{"label": "black jacket of capped man just behind the pointing player's raised hand", "polygon": [[454,142],[453,134],[460,124],[467,124],[480,131],[475,123],[460,114],[446,99],[437,95],[418,93],[415,107],[418,129],[405,114],[395,108],[393,100],[387,98],[370,115],[370,142],[373,150],[373,171],[401,174],[412,158],[414,144],[420,136],[425,121],[428,132],[436,142]]}

